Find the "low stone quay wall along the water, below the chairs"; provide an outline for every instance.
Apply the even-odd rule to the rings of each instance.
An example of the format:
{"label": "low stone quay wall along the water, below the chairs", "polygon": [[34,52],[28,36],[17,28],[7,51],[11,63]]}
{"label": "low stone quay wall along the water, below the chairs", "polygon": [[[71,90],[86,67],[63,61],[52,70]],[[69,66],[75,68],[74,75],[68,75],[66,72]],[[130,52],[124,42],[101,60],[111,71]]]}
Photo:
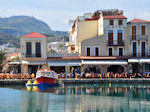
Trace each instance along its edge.
{"label": "low stone quay wall along the water, below the chairs", "polygon": [[[0,80],[0,85],[20,85],[27,83],[28,80],[33,82],[35,79],[4,79]],[[150,78],[68,78],[59,81],[62,84],[150,84]]]}

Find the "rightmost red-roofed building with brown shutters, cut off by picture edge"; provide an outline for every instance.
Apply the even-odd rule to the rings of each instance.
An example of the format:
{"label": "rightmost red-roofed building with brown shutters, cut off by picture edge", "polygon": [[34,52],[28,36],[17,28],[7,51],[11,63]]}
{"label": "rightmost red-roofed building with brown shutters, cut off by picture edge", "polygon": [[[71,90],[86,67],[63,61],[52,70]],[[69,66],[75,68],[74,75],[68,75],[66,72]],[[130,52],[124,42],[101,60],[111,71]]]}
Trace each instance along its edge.
{"label": "rightmost red-roofed building with brown shutters, cut off by picture edge", "polygon": [[133,19],[127,24],[130,73],[150,72],[150,21]]}

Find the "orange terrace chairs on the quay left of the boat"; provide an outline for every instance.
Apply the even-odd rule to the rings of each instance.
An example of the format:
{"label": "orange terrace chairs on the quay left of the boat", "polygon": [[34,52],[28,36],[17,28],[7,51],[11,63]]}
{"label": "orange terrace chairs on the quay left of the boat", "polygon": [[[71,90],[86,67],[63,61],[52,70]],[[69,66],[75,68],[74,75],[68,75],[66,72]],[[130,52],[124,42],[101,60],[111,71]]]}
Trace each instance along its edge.
{"label": "orange terrace chairs on the quay left of the boat", "polygon": [[35,78],[35,74],[4,74],[4,73],[0,73],[0,80],[5,80],[5,79],[34,79]]}

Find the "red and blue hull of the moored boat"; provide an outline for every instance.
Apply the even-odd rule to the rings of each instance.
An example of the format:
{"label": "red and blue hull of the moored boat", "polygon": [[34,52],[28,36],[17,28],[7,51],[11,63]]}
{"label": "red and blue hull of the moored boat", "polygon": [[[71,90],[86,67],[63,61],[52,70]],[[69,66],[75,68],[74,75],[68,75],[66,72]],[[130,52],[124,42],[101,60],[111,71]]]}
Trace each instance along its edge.
{"label": "red and blue hull of the moored boat", "polygon": [[58,84],[58,80],[51,77],[39,77],[36,78],[39,86],[56,86]]}

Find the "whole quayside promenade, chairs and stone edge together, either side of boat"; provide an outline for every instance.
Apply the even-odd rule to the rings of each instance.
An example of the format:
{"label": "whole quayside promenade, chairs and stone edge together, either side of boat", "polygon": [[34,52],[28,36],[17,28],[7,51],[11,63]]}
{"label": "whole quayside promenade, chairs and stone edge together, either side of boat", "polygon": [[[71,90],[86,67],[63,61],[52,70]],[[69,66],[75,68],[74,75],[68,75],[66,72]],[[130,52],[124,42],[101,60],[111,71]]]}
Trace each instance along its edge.
{"label": "whole quayside promenade, chairs and stone edge together, either side of boat", "polygon": [[[70,75],[73,76],[73,75]],[[59,82],[62,84],[105,84],[105,83],[123,83],[123,84],[150,84],[149,74],[141,75],[135,73],[130,76],[127,73],[121,74],[88,74],[78,76],[75,74],[75,78],[61,74],[58,76]],[[0,74],[0,85],[18,85],[25,84],[28,80],[33,82],[35,80],[35,75],[20,75],[20,74]]]}

